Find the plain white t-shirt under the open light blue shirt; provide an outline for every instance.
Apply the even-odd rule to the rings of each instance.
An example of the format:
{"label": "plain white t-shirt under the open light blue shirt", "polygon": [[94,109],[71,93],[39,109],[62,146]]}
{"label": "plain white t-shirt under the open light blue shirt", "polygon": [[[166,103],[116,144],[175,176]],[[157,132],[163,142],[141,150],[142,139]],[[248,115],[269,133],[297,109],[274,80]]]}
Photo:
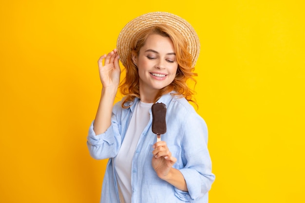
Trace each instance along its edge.
{"label": "plain white t-shirt under the open light blue shirt", "polygon": [[150,120],[149,110],[153,103],[139,101],[133,112],[124,141],[115,159],[115,172],[119,188],[120,203],[131,203],[132,200],[132,160],[138,140]]}

